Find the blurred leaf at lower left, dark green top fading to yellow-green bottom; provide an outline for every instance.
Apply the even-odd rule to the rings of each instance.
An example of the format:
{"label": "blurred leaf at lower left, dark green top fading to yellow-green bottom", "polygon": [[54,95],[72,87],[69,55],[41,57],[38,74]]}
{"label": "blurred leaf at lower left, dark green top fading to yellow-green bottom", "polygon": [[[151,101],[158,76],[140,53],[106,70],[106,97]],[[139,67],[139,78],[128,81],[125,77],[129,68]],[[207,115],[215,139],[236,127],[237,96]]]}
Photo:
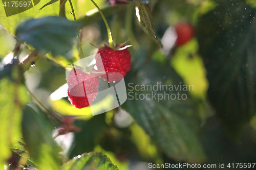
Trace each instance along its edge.
{"label": "blurred leaf at lower left, dark green top fading to yellow-green bottom", "polygon": [[41,170],[59,169],[61,160],[60,148],[52,137],[53,126],[38,107],[27,106],[24,110],[22,131],[26,148],[30,157],[35,160]]}

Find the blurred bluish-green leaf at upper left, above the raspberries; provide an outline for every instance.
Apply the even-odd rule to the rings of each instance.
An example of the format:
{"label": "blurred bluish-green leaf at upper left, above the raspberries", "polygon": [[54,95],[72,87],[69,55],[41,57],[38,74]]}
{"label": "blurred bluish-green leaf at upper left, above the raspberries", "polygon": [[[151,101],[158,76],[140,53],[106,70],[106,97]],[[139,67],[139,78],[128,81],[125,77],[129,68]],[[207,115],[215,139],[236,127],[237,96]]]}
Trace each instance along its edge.
{"label": "blurred bluish-green leaf at upper left, above the raspberries", "polygon": [[49,16],[29,19],[21,23],[15,32],[18,40],[33,45],[39,53],[51,52],[53,56],[71,55],[79,25],[66,18]]}

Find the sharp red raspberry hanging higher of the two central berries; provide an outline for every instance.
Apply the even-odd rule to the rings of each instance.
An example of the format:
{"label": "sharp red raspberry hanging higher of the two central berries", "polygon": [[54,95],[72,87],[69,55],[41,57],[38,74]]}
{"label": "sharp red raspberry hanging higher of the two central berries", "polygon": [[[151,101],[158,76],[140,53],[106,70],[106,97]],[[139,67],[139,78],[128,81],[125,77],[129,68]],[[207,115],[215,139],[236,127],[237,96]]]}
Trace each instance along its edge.
{"label": "sharp red raspberry hanging higher of the two central berries", "polygon": [[[108,74],[108,81],[120,81],[122,77],[117,74],[111,74],[118,72],[123,76],[131,69],[131,54],[127,48],[124,50],[113,50],[109,46],[105,45],[104,48],[100,48],[96,55],[96,65],[99,71],[106,71]],[[104,66],[104,69],[100,65],[100,57]],[[104,80],[106,78],[102,77]]]}

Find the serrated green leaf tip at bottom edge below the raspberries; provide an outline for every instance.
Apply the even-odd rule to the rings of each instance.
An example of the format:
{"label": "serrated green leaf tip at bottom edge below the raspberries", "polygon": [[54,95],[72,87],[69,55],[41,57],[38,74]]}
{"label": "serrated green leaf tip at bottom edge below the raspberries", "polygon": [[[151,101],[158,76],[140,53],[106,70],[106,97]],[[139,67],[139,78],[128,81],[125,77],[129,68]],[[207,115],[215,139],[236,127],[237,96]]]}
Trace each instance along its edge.
{"label": "serrated green leaf tip at bottom edge below the raspberries", "polygon": [[118,170],[110,158],[103,153],[84,153],[62,165],[62,170]]}

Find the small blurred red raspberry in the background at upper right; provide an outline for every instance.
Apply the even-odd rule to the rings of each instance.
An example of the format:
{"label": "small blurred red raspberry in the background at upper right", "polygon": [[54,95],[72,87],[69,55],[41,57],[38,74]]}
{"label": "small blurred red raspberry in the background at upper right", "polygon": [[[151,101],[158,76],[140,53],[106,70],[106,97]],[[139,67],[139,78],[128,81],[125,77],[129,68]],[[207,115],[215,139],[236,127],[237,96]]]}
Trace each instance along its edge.
{"label": "small blurred red raspberry in the background at upper right", "polygon": [[180,46],[185,44],[188,40],[190,40],[194,34],[194,28],[189,23],[178,23],[175,26],[175,30],[177,33],[176,45]]}

